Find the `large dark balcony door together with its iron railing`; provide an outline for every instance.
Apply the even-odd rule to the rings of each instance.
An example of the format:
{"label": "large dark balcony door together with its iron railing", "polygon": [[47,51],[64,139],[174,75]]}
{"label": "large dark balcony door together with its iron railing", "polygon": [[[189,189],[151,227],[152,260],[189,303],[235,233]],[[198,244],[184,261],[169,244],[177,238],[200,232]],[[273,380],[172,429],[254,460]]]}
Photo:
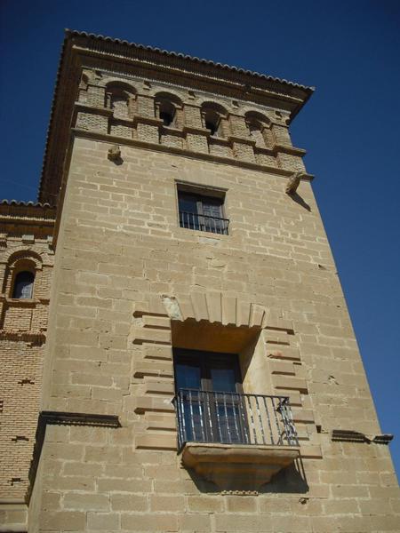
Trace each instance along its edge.
{"label": "large dark balcony door together with its iron railing", "polygon": [[237,354],[173,348],[178,443],[298,446],[287,396],[244,394]]}

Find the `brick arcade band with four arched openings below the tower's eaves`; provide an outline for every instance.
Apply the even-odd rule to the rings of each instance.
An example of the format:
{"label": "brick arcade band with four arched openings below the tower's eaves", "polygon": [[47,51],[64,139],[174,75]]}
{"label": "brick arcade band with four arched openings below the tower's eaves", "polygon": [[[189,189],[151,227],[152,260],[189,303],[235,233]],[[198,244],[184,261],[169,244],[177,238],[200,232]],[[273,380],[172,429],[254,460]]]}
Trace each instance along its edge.
{"label": "brick arcade band with four arched openings below the tower's eaves", "polygon": [[[139,139],[154,145],[163,144],[182,151],[209,153],[285,171],[305,171],[301,161],[304,151],[296,151],[296,148],[292,147],[286,124],[288,113],[275,112],[272,108],[260,109],[256,104],[249,107],[247,102],[236,100],[234,104],[232,100],[204,91],[195,93],[174,87],[172,90],[169,88],[169,91],[172,91],[171,99],[180,102],[180,108],[177,110],[177,120],[171,136],[168,128],[164,128],[161,121],[156,119],[157,94],[165,89],[163,84],[143,84],[140,79],[129,80],[127,84],[126,79],[118,80],[115,76],[104,75],[95,78],[90,70],[85,73],[85,76],[92,78],[92,85],[89,87],[92,92],[80,92],[76,115],[76,128],[79,130],[110,133],[121,139]],[[117,88],[118,83],[124,90],[129,88],[132,94],[137,95],[135,106],[131,107],[130,120],[125,120],[124,124],[117,123],[119,115],[116,109],[108,109],[105,113],[107,86],[112,84]],[[217,139],[206,135],[202,105],[223,109],[220,137]],[[246,125],[246,116],[249,113],[256,113],[262,119],[262,133],[260,131],[257,147],[266,150],[268,157],[258,156],[257,150],[254,153],[255,141],[251,142],[254,139]],[[294,155],[285,154],[282,151],[285,147],[291,147]]]}

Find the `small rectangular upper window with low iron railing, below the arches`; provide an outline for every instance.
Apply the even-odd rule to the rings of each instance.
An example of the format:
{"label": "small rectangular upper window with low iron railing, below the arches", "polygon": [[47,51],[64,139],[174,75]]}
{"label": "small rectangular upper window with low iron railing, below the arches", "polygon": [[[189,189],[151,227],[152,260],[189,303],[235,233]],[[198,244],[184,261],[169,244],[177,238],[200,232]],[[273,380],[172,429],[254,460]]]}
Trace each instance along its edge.
{"label": "small rectangular upper window with low iron railing, below the arches", "polygon": [[224,219],[223,198],[178,190],[180,227],[214,234],[228,235],[228,219]]}

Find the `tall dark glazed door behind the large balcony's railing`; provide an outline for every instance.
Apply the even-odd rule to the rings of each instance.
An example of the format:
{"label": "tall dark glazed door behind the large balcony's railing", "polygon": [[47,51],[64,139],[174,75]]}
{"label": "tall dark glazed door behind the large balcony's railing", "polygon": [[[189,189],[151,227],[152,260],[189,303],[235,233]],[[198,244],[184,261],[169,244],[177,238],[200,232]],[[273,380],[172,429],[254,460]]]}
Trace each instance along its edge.
{"label": "tall dark glazed door behind the large balcony's railing", "polygon": [[173,357],[184,440],[247,442],[238,356],[175,348]]}

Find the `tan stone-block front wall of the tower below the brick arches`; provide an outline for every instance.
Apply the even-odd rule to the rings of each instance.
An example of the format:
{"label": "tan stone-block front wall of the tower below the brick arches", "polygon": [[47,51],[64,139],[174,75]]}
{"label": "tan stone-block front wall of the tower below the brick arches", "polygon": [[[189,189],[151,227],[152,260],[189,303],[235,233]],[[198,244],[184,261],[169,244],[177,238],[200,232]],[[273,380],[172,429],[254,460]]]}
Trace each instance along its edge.
{"label": "tan stone-block front wall of the tower below the brick arches", "polygon": [[[43,405],[121,426],[47,426],[31,530],[396,531],[388,447],[332,439],[380,427],[310,183],[290,196],[277,172],[110,146],[75,139]],[[225,190],[229,235],[179,227],[178,180]],[[301,458],[257,492],[180,465],[178,323],[257,330],[246,386],[292,399]]]}

